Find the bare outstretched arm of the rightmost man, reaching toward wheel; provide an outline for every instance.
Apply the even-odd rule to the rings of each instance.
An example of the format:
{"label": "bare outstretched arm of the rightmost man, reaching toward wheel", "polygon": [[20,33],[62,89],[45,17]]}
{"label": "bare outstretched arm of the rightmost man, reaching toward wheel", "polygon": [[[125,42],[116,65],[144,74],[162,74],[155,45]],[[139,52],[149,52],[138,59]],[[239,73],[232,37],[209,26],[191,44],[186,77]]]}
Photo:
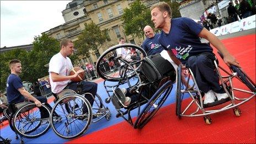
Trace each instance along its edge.
{"label": "bare outstretched arm of the rightmost man, reaching toward wheel", "polygon": [[230,66],[230,64],[239,66],[239,63],[237,62],[236,58],[234,58],[230,52],[227,51],[226,47],[222,44],[222,42],[209,30],[203,28],[201,32],[198,34],[201,38],[205,38],[208,40],[218,51],[221,52],[223,55],[223,60],[226,63],[227,66]]}

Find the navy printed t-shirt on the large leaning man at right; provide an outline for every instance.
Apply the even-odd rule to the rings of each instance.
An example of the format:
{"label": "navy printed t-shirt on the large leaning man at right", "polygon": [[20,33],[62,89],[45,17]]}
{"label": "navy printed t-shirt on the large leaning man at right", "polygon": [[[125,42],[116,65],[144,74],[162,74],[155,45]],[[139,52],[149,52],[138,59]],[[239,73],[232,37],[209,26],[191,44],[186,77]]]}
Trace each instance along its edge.
{"label": "navy printed t-shirt on the large leaning man at right", "polygon": [[185,64],[190,56],[212,52],[212,47],[202,43],[198,36],[203,28],[192,19],[175,18],[171,21],[169,34],[162,30],[158,40],[164,49],[172,50],[173,54]]}

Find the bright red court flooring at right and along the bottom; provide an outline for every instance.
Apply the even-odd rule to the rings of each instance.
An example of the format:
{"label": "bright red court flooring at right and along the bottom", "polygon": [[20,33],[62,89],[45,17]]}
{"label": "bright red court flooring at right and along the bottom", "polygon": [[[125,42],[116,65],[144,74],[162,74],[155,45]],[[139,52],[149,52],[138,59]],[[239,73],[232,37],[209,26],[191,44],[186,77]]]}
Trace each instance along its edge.
{"label": "bright red court flooring at right and along the bottom", "polygon": [[[255,82],[255,34],[222,42]],[[223,66],[223,61],[218,60]],[[240,117],[231,109],[210,115],[212,124],[206,125],[202,117],[179,120],[172,104],[160,109],[142,130],[121,122],[68,143],[256,143],[255,98],[239,108],[242,110]]]}

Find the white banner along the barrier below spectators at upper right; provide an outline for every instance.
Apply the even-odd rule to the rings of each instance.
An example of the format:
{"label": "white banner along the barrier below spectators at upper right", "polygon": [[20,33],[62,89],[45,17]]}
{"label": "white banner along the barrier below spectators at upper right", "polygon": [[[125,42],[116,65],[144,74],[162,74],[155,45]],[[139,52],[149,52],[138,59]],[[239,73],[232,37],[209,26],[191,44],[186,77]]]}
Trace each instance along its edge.
{"label": "white banner along the barrier below spectators at upper right", "polygon": [[248,18],[238,20],[236,22],[223,25],[221,27],[211,29],[210,32],[216,36],[226,35],[230,33],[235,33],[238,31],[255,29],[255,15],[252,15]]}

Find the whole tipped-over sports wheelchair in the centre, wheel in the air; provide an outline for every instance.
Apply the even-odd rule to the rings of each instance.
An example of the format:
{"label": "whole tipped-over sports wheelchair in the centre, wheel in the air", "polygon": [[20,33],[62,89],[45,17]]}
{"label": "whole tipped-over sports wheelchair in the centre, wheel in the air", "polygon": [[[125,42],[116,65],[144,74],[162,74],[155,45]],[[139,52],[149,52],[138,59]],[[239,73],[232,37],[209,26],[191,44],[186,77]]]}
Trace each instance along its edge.
{"label": "whole tipped-over sports wheelchair in the centre, wheel in the air", "polygon": [[[117,49],[129,50],[126,55],[119,56],[116,54]],[[136,54],[132,55],[130,50],[135,50]],[[106,68],[100,67],[104,57],[114,62],[114,70],[104,71]],[[159,57],[161,56],[147,57],[139,46],[121,44],[110,47],[98,58],[96,70],[105,79],[104,87],[108,94],[105,102],[109,103],[111,100],[118,111],[116,118],[122,117],[135,129],[141,129],[153,118],[172,90],[175,70],[167,60]],[[162,70],[158,68],[159,65],[163,65]],[[116,92],[116,88],[121,87],[126,87],[131,94],[137,95],[136,102],[124,105],[125,98]],[[132,110],[137,110],[136,119],[132,119]]]}

